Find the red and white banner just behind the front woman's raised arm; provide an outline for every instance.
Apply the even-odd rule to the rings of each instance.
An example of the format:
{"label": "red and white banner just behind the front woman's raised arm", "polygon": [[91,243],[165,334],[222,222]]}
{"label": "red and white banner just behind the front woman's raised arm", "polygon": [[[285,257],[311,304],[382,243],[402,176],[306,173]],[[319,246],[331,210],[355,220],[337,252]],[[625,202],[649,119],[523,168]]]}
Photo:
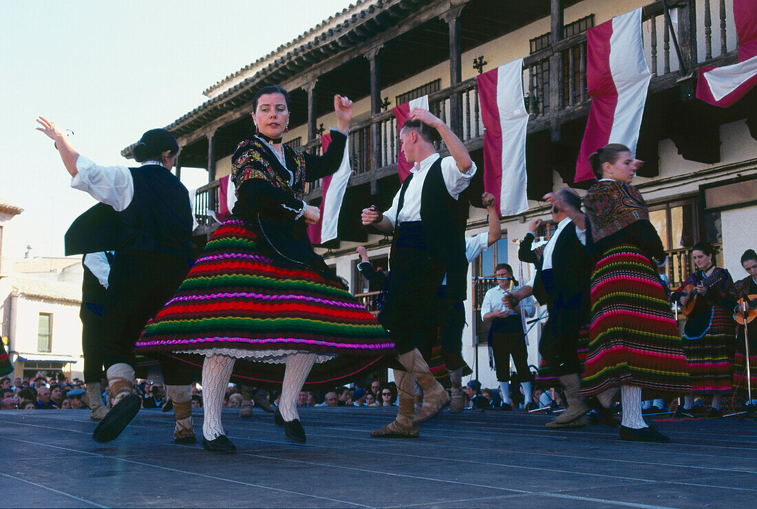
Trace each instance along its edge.
{"label": "red and white banner just behind the front woman's raised arm", "polygon": [[[325,153],[331,144],[331,133],[321,136],[321,147]],[[347,150],[348,145],[344,144],[344,156],[341,158],[339,169],[334,175],[323,177],[321,182],[321,195],[323,199],[319,209],[321,210],[321,220],[315,225],[307,228],[307,235],[313,244],[324,244],[337,236],[337,227],[339,225],[339,211],[341,203],[344,200],[344,191],[347,189],[347,182],[350,181],[352,170],[350,169],[350,156]]]}

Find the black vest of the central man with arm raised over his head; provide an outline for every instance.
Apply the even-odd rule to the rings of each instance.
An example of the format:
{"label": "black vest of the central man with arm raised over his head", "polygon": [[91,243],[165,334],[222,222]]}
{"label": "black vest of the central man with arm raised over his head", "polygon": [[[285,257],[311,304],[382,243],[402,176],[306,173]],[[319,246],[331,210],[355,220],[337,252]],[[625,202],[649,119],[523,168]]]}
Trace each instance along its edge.
{"label": "black vest of the central man with arm raised over his head", "polygon": [[[400,216],[405,192],[411,173],[402,183],[400,189],[397,217]],[[421,191],[421,223],[428,246],[428,256],[441,262],[447,270],[447,296],[452,300],[466,300],[466,276],[468,260],[466,259],[466,219],[467,202],[455,200],[447,191],[444,175],[441,172],[441,157],[431,165],[423,181]],[[395,236],[399,225],[394,225]],[[395,246],[392,244],[391,257]]]}

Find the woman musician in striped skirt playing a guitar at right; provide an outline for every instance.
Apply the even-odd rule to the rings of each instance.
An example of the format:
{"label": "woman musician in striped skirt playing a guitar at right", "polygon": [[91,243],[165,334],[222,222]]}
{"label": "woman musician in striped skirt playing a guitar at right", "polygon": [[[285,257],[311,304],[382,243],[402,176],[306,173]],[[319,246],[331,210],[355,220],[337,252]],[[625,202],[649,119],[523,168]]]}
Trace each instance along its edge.
{"label": "woman musician in striped skirt playing a guitar at right", "polygon": [[[684,354],[693,392],[712,394],[709,417],[721,417],[721,399],[731,392],[734,379],[734,317],[723,302],[734,280],[726,269],[715,266],[710,244],[695,244],[691,254],[698,270],[678,288],[681,306],[696,299],[684,326]],[[686,293],[687,286],[695,287],[696,295]],[[693,394],[687,395],[684,410],[693,406]]]}

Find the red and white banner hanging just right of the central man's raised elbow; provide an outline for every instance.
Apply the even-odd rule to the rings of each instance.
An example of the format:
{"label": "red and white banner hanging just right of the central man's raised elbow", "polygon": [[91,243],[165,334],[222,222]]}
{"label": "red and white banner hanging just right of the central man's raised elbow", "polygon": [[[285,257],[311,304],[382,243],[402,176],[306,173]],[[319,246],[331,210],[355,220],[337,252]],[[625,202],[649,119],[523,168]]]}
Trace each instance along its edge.
{"label": "red and white banner hanging just right of the central man's raised elbow", "polygon": [[523,101],[523,59],[476,77],[484,123],[484,191],[494,194],[502,216],[528,210]]}

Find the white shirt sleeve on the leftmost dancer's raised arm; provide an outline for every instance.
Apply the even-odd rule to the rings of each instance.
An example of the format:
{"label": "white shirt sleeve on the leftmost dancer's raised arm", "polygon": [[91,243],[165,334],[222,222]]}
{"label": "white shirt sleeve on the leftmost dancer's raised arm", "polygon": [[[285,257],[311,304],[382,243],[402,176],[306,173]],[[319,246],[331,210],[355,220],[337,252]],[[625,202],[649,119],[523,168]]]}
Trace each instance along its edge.
{"label": "white shirt sleeve on the leftmost dancer's raised arm", "polygon": [[86,191],[118,212],[125,210],[134,198],[134,179],[126,166],[100,166],[83,156],[76,160],[71,187]]}

